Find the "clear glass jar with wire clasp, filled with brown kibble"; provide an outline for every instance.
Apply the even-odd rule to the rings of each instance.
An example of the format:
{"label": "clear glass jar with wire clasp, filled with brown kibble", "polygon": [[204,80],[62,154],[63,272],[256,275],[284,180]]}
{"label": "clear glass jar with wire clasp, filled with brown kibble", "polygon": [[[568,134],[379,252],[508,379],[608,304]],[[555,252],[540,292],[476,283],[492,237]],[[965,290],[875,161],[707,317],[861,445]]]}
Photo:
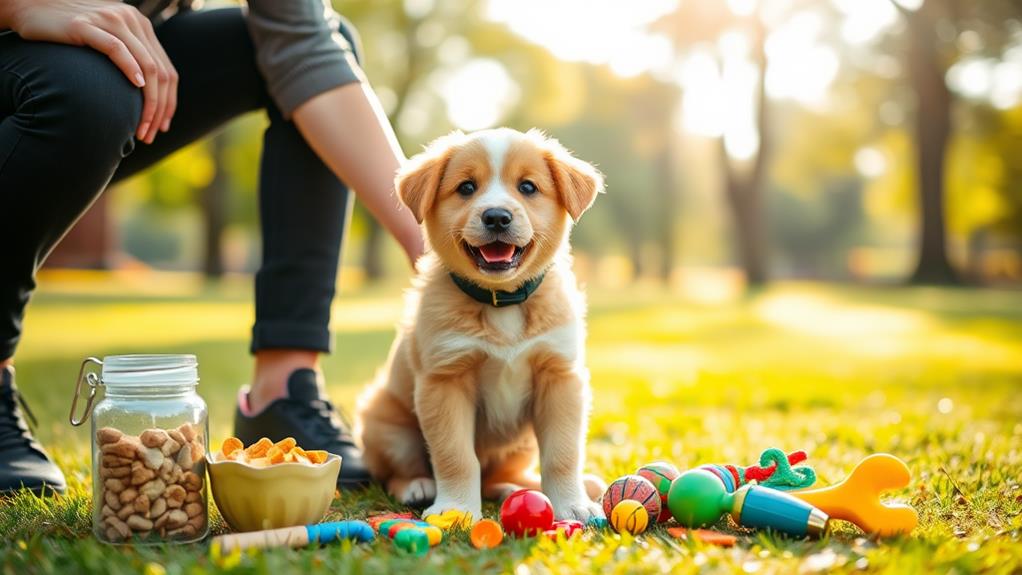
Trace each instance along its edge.
{"label": "clear glass jar with wire clasp, filled with brown kibble", "polygon": [[[101,368],[99,374],[90,364]],[[85,413],[76,419],[83,382]],[[210,531],[208,424],[194,355],[108,355],[82,363],[71,423],[92,409],[92,529],[110,543],[191,542]]]}

